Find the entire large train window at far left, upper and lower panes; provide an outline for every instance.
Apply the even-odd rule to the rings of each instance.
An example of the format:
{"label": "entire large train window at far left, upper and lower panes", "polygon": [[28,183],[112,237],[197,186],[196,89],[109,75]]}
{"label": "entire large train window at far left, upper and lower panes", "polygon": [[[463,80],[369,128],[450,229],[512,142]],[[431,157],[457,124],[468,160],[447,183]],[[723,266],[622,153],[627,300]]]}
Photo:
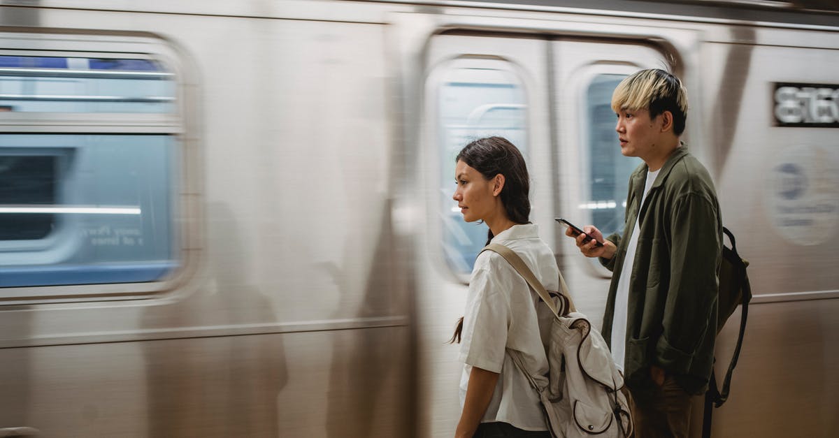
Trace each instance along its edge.
{"label": "entire large train window at far left, upper and lower panes", "polygon": [[0,301],[154,291],[181,264],[174,57],[38,38],[0,34]]}

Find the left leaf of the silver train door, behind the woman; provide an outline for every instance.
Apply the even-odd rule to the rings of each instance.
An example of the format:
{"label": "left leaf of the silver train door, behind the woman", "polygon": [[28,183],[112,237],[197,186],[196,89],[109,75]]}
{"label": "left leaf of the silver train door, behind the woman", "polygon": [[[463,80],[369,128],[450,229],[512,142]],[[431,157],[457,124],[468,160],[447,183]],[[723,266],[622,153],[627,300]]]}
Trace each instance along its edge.
{"label": "left leaf of the silver train door, behind the woman", "polygon": [[478,34],[438,35],[427,47],[420,178],[429,196],[417,273],[420,436],[455,430],[460,347],[445,342],[463,315],[466,283],[487,241],[487,226],[463,222],[451,199],[455,157],[466,143],[498,135],[519,147],[531,178],[531,220],[545,240],[552,238],[548,50],[543,38]]}

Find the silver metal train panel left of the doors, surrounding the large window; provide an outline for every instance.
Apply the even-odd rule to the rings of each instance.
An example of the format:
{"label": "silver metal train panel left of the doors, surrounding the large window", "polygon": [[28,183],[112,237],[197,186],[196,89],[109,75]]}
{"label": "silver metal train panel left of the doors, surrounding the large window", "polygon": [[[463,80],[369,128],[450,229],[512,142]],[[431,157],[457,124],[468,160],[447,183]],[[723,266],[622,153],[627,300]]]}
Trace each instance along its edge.
{"label": "silver metal train panel left of the doors, surrounding the large window", "polygon": [[[0,318],[0,427],[44,436],[413,429],[382,26],[23,12],[16,24],[41,29],[16,29],[30,45],[13,50],[72,57],[80,45],[130,52],[143,45],[123,46],[151,39],[176,54],[183,160],[170,175],[184,181],[173,223],[185,233],[173,246],[185,266],[151,297],[133,292],[143,284],[7,289],[18,295]],[[34,123],[16,135],[42,138],[72,120]],[[102,297],[91,300],[93,288]]]}

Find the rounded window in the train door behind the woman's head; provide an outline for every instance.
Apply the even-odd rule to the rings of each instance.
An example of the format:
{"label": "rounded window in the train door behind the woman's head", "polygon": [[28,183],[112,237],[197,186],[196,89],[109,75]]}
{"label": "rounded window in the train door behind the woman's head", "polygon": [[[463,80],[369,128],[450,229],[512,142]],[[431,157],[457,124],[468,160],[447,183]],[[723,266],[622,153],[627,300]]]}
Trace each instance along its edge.
{"label": "rounded window in the train door behind the woman's head", "polygon": [[456,274],[469,274],[487,242],[487,226],[463,221],[452,201],[455,158],[470,141],[497,135],[527,156],[526,102],[521,78],[508,63],[452,65],[438,90],[440,208],[443,252]]}

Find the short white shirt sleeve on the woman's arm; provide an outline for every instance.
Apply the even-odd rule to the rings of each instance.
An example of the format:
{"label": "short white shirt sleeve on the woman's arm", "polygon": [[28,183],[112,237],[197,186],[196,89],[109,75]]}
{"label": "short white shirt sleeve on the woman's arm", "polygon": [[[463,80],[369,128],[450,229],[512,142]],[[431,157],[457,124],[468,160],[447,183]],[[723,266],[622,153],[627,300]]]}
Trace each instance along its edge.
{"label": "short white shirt sleeve on the woman's arm", "polygon": [[[500,257],[500,256],[498,256]],[[461,333],[461,362],[501,373],[511,320],[510,304],[497,270],[472,273]]]}

